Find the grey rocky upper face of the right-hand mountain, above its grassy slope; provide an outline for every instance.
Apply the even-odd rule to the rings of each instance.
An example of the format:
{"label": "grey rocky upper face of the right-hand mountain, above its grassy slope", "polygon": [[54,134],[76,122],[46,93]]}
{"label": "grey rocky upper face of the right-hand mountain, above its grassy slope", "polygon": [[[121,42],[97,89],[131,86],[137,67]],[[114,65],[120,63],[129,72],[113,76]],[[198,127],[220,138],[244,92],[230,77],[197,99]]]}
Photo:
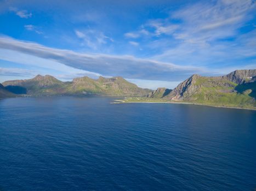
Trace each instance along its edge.
{"label": "grey rocky upper face of the right-hand mountain, above its grassy slope", "polygon": [[242,87],[245,86],[246,83],[250,83],[252,95],[254,94],[253,87],[255,86],[255,77],[256,70],[236,70],[225,76],[218,77],[192,75],[189,79],[181,82],[164,98],[186,101],[196,101],[198,99],[214,100],[213,97],[225,97],[223,93],[235,93],[238,85],[240,89],[243,89]]}

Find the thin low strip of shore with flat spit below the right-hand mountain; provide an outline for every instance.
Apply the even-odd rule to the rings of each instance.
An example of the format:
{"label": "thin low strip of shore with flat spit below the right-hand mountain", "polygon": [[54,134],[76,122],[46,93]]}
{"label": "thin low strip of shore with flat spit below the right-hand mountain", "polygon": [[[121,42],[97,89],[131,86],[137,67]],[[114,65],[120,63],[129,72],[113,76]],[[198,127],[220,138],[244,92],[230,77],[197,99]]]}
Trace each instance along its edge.
{"label": "thin low strip of shore with flat spit below the right-hand mountain", "polygon": [[207,104],[197,104],[197,103],[189,103],[189,102],[126,102],[124,100],[114,100],[116,102],[112,102],[111,104],[129,104],[129,103],[146,103],[146,104],[190,104],[190,105],[202,105],[202,106],[210,106],[214,108],[229,108],[229,109],[241,109],[241,110],[253,110],[256,111],[256,108],[239,108],[232,106],[218,106],[218,105],[207,105]]}

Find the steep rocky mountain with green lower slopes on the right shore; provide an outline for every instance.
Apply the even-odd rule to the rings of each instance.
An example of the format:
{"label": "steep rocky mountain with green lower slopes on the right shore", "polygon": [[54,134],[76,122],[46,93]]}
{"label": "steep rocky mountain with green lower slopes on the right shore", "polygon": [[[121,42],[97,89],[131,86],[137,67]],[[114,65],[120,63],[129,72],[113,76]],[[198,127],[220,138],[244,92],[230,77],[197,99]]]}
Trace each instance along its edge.
{"label": "steep rocky mountain with green lower slopes on the right shore", "polygon": [[236,70],[218,77],[195,74],[162,99],[241,108],[256,107],[256,70]]}

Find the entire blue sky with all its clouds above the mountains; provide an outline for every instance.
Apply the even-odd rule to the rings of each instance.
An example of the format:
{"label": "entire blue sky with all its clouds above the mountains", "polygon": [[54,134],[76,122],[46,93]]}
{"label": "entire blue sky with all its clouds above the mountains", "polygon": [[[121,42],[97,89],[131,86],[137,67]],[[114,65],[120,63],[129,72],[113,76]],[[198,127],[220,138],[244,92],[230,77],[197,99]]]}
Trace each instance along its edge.
{"label": "entire blue sky with all its clouds above the mountains", "polygon": [[255,0],[0,0],[0,82],[122,76],[174,88],[256,69]]}

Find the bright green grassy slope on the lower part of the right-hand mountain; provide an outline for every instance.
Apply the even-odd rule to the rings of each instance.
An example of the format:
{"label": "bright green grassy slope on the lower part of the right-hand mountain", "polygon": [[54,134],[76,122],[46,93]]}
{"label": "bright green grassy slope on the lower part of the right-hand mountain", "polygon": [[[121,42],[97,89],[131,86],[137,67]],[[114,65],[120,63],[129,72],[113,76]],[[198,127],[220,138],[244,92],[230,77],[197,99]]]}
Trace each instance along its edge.
{"label": "bright green grassy slope on the lower part of the right-hand mountain", "polygon": [[[239,108],[255,107],[256,103],[251,93],[252,90],[243,91],[240,85],[240,91],[237,91],[237,84],[228,80],[199,77],[196,79],[196,91],[194,94],[187,92],[183,95],[183,100],[192,103],[232,106]],[[255,88],[255,83],[254,86]],[[245,89],[244,89],[245,90]]]}

